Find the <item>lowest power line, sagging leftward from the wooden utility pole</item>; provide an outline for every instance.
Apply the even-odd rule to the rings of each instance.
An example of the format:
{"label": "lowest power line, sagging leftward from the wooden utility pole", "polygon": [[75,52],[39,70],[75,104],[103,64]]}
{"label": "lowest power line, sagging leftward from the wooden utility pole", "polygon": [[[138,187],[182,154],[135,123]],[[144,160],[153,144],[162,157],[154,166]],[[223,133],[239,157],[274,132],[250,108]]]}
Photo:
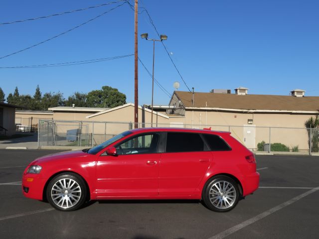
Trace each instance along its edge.
{"label": "lowest power line, sagging leftward from the wooden utility pole", "polygon": [[80,64],[88,64],[88,63],[95,63],[101,61],[109,61],[115,60],[120,58],[125,58],[129,56],[133,56],[134,54],[130,55],[123,55],[123,56],[113,56],[113,57],[105,57],[105,58],[98,58],[92,60],[84,60],[84,61],[71,61],[71,62],[63,62],[63,63],[52,63],[52,64],[42,64],[42,65],[30,65],[30,66],[2,66],[0,69],[17,69],[17,68],[42,68],[42,67],[57,67],[57,66],[71,66],[71,65],[80,65]]}

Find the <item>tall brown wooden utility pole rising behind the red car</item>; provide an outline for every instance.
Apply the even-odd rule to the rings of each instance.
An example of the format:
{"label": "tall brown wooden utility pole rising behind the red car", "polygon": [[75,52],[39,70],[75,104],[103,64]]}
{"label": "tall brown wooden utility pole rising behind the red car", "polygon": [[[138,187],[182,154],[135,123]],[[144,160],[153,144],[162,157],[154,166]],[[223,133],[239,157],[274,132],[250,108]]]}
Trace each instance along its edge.
{"label": "tall brown wooden utility pole rising behind the red car", "polygon": [[139,127],[139,69],[138,69],[138,0],[135,0],[135,53],[134,53],[134,61],[135,61],[135,91],[134,91],[134,128]]}

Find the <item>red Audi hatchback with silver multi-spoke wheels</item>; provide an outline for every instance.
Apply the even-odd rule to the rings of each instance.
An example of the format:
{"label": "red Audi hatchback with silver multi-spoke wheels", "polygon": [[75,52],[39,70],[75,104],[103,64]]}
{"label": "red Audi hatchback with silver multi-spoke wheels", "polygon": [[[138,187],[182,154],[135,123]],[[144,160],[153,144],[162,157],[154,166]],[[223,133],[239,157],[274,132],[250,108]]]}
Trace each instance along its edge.
{"label": "red Audi hatchback with silver multi-spoke wheels", "polygon": [[257,190],[254,154],[229,132],[186,128],[125,131],[93,148],[31,162],[24,196],[61,211],[89,200],[201,199],[217,212]]}

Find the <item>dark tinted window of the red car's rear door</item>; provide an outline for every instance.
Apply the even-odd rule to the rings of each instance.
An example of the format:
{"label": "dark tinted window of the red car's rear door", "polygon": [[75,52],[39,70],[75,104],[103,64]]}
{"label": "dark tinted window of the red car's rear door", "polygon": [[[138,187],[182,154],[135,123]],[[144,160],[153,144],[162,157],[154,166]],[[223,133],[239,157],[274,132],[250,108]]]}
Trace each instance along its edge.
{"label": "dark tinted window of the red car's rear door", "polygon": [[204,151],[204,142],[199,133],[167,132],[167,153],[195,151]]}

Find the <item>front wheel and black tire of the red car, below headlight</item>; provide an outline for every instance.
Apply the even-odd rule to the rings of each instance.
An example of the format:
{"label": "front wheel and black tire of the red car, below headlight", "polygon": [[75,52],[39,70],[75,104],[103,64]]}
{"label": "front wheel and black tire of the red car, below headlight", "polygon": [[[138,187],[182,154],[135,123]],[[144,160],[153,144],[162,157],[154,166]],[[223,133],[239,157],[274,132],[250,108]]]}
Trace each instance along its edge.
{"label": "front wheel and black tire of the red car, below headlight", "polygon": [[63,212],[79,209],[85,203],[86,197],[86,184],[82,177],[74,173],[62,173],[55,176],[46,189],[48,202],[53,208]]}

